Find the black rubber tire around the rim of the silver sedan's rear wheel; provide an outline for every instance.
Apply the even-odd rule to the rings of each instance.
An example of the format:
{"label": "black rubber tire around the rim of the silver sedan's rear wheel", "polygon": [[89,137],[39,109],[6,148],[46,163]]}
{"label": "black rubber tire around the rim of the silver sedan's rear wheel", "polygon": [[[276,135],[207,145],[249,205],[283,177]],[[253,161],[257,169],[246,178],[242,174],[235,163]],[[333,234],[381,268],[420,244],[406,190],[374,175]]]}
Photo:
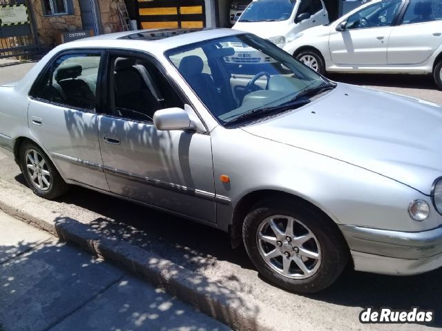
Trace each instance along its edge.
{"label": "black rubber tire around the rim of the silver sedan's rear wheel", "polygon": [[[32,181],[30,173],[28,172],[28,166],[26,164],[27,163],[26,154],[30,150],[37,151],[45,161],[44,170],[47,170],[50,174],[50,181],[49,181],[50,185],[48,185],[48,188],[46,190],[40,190],[35,184],[35,182]],[[20,153],[19,160],[20,160],[21,172],[23,173],[26,179],[26,183],[28,183],[28,186],[32,189],[32,192],[37,194],[39,197],[50,200],[57,199],[62,195],[66,194],[66,192],[68,192],[70,186],[64,181],[63,178],[61,178],[58,170],[52,164],[46,153],[43,150],[41,150],[41,148],[39,148],[39,146],[37,146],[35,143],[32,143],[30,141],[26,141],[20,147],[19,153]]]}

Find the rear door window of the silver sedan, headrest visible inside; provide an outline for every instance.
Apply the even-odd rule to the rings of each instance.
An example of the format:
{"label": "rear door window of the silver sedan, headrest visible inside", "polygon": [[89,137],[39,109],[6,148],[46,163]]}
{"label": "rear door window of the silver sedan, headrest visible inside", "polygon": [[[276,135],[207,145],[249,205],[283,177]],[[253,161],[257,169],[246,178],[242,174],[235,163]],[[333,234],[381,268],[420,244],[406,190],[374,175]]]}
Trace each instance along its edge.
{"label": "rear door window of the silver sedan, headrest visible inside", "polygon": [[101,54],[65,54],[57,58],[32,89],[32,97],[67,107],[95,110]]}

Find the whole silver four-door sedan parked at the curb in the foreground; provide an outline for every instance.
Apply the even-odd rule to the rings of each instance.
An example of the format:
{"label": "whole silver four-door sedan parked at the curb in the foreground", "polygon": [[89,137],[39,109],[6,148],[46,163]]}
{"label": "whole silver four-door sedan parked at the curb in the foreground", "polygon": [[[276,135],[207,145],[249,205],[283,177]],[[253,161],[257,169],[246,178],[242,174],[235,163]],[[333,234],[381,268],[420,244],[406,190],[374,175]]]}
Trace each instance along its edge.
{"label": "whole silver four-door sedan parked at the curb in the foreground", "polygon": [[442,265],[442,108],[334,83],[253,34],[66,43],[0,100],[0,146],[35,194],[81,185],[219,228],[287,290],[348,263]]}

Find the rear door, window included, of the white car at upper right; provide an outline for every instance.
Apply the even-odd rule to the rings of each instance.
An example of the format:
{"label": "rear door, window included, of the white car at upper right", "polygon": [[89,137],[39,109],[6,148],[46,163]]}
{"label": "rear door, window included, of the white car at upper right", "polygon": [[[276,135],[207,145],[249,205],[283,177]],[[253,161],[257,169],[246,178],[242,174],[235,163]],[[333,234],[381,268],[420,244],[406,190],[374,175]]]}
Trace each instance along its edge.
{"label": "rear door, window included, of the white car at upper right", "polygon": [[442,3],[410,0],[400,26],[388,41],[389,64],[417,64],[427,60],[442,44]]}

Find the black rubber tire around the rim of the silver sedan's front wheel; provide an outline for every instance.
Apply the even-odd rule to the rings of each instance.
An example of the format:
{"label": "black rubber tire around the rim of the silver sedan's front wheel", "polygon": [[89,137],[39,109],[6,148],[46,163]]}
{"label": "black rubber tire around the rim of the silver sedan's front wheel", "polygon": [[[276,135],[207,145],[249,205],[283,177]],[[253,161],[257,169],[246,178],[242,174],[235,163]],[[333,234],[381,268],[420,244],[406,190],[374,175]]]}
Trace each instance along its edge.
{"label": "black rubber tire around the rim of the silver sedan's front wheel", "polygon": [[[260,254],[257,240],[260,224],[267,217],[276,214],[287,215],[301,221],[316,236],[320,246],[320,263],[311,276],[305,279],[285,277],[273,270]],[[244,219],[242,237],[251,261],[262,276],[291,292],[314,293],[324,290],[336,281],[349,259],[345,239],[336,224],[315,208],[291,199],[268,199],[253,206]]]}

